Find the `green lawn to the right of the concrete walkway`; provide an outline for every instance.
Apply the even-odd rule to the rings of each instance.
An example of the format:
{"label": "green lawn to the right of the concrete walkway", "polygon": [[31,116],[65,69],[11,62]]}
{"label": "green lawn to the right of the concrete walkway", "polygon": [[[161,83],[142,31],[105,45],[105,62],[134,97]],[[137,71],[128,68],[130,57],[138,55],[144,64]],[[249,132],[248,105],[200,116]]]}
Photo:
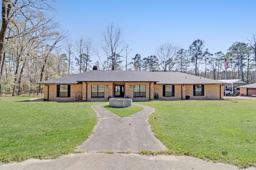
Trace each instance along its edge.
{"label": "green lawn to the right of the concrete walkway", "polygon": [[256,101],[138,102],[156,108],[156,137],[177,155],[256,167]]}

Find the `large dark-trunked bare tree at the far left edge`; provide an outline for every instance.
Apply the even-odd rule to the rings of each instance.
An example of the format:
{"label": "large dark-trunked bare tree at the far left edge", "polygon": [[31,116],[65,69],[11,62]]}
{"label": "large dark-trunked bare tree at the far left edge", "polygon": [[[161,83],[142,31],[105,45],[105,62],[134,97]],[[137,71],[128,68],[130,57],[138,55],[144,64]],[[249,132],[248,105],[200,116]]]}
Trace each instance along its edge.
{"label": "large dark-trunked bare tree at the far left edge", "polygon": [[[12,30],[10,23],[14,21],[33,21],[40,16],[46,16],[47,10],[54,10],[51,3],[52,0],[2,0],[2,25],[0,30],[0,92],[2,85],[3,65],[5,60],[6,32]],[[27,21],[26,21],[27,22]],[[26,35],[31,32],[30,28],[34,28],[34,22],[30,22],[23,32],[18,31],[10,35],[11,37]],[[14,24],[14,27],[16,25]]]}

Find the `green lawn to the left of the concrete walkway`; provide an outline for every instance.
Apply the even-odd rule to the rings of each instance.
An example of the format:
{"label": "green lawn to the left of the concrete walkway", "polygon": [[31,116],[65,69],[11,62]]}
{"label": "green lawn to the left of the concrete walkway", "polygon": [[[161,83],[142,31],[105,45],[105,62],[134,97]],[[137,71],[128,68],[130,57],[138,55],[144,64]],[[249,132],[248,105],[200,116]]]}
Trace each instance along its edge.
{"label": "green lawn to the left of the concrete walkway", "polygon": [[99,102],[20,102],[31,98],[0,100],[0,164],[73,152],[96,123]]}

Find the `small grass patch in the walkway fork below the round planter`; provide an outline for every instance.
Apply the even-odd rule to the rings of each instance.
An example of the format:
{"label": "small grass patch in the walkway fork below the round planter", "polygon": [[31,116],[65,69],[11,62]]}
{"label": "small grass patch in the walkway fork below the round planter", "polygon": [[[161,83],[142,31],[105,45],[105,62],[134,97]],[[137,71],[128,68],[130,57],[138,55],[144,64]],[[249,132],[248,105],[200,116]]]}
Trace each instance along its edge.
{"label": "small grass patch in the walkway fork below the round planter", "polygon": [[132,105],[130,107],[118,108],[118,107],[111,107],[108,104],[106,104],[106,105],[103,105],[103,107],[120,117],[129,117],[130,115],[143,110],[142,107],[136,106],[136,105]]}

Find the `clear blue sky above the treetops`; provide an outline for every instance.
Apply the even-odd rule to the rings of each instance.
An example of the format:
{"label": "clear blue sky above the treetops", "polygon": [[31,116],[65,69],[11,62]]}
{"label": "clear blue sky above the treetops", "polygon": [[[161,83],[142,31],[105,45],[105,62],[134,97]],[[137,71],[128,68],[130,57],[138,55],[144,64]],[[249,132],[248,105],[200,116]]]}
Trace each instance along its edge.
{"label": "clear blue sky above the treetops", "polygon": [[256,0],[56,0],[55,5],[55,20],[72,41],[90,37],[100,49],[106,27],[120,26],[130,59],[156,55],[167,42],[188,49],[197,39],[210,53],[225,54],[256,33]]}

